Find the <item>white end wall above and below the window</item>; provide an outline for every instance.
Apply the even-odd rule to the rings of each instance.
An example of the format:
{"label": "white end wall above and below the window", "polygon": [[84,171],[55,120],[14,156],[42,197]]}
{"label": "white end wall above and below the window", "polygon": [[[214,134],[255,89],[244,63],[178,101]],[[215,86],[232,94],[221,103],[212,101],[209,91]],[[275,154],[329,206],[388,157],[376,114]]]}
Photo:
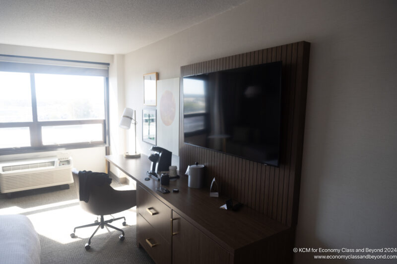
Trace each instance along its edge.
{"label": "white end wall above and below the window", "polygon": [[[110,70],[113,67],[113,55],[108,54],[73,52],[6,44],[0,44],[0,54],[105,62],[110,63]],[[73,158],[73,166],[77,169],[99,172],[105,171],[105,147],[7,155],[0,156],[0,160],[57,156],[59,152],[69,153]]]}

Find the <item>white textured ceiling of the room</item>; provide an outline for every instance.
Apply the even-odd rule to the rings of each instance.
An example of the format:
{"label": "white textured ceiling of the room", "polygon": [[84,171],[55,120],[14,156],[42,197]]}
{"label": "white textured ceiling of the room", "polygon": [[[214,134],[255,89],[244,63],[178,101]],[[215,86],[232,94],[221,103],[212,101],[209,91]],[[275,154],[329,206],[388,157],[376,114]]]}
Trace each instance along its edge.
{"label": "white textured ceiling of the room", "polygon": [[0,0],[0,44],[124,54],[245,1]]}

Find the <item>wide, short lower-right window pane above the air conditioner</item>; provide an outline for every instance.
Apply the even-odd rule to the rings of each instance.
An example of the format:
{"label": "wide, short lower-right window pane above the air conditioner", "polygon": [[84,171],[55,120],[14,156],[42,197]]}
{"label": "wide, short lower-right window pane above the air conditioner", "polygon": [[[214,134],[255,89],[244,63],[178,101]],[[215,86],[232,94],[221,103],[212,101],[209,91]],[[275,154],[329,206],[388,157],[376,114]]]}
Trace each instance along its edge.
{"label": "wide, short lower-right window pane above the air conditioner", "polygon": [[43,145],[102,141],[102,124],[43,126]]}

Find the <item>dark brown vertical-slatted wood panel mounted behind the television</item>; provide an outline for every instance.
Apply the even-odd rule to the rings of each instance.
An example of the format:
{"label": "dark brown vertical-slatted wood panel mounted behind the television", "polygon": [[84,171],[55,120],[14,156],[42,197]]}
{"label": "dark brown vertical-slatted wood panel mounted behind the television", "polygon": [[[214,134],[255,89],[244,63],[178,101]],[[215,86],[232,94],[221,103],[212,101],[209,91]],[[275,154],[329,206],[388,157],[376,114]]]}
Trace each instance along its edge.
{"label": "dark brown vertical-slatted wood panel mounted behind the television", "polygon": [[[303,49],[301,48],[304,47]],[[298,55],[299,46],[299,55]],[[300,185],[302,139],[306,106],[307,71],[310,45],[297,43],[231,55],[181,67],[181,75],[194,75],[217,70],[250,66],[282,60],[283,97],[280,141],[280,167],[229,156],[183,144],[183,113],[180,114],[180,170],[198,161],[207,166],[207,174],[216,176],[221,192],[246,206],[293,225],[297,215]],[[297,68],[300,65],[301,68]],[[297,74],[300,74],[298,78]],[[301,85],[298,85],[301,83]],[[182,85],[182,80],[181,80]],[[295,90],[298,93],[295,93]],[[180,93],[182,99],[182,90]],[[183,102],[180,109],[182,111]]]}

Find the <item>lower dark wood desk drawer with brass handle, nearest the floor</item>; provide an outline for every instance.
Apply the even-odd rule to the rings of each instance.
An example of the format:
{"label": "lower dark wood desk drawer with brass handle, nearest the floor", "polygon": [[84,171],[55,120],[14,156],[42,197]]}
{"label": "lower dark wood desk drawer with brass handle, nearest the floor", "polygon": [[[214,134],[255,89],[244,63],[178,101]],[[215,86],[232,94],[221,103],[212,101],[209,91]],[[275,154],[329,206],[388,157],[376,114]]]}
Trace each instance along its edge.
{"label": "lower dark wood desk drawer with brass handle, nearest the floor", "polygon": [[136,216],[137,240],[156,264],[169,264],[170,244],[138,213]]}

